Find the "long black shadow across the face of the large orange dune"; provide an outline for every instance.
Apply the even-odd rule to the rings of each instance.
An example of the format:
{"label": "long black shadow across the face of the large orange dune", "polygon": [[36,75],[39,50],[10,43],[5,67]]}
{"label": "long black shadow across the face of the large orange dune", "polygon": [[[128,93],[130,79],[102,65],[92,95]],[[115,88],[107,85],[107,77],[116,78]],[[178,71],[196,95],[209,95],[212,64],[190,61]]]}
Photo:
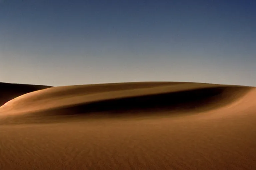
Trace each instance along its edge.
{"label": "long black shadow across the face of the large orange dune", "polygon": [[[157,113],[198,113],[225,106],[243,96],[244,87],[214,87],[166,94],[127,97],[53,109],[46,115],[94,115],[120,117]],[[97,113],[97,115],[95,115]],[[102,113],[102,115],[101,115]]]}

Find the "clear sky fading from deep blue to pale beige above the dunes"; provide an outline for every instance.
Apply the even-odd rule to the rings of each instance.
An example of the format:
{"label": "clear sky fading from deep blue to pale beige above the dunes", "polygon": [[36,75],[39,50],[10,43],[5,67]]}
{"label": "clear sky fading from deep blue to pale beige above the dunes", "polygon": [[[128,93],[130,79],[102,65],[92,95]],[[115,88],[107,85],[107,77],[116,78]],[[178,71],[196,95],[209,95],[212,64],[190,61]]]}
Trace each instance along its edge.
{"label": "clear sky fading from deep blue to pale beige above the dunes", "polygon": [[0,0],[0,82],[256,86],[255,0]]}

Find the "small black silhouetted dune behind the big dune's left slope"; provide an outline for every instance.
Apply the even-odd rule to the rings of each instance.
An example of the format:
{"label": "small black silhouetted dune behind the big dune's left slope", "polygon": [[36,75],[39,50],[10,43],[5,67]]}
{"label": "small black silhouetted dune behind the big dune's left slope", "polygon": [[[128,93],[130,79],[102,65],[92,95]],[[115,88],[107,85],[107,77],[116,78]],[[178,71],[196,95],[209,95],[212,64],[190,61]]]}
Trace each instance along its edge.
{"label": "small black silhouetted dune behind the big dune's left slope", "polygon": [[29,85],[29,84],[13,84],[0,82],[0,106],[9,100],[20,95],[33,92],[36,90],[46,89],[51,86]]}

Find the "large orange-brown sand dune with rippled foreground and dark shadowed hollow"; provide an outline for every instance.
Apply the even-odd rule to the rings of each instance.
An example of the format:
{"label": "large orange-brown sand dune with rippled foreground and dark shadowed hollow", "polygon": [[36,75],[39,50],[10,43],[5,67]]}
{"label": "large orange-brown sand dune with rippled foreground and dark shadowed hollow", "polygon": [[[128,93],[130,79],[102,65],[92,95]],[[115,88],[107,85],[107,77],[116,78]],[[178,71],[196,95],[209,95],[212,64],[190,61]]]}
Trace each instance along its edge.
{"label": "large orange-brown sand dune with rippled foreground and dark shadowed hollow", "polygon": [[256,88],[62,86],[0,107],[0,169],[256,169]]}

